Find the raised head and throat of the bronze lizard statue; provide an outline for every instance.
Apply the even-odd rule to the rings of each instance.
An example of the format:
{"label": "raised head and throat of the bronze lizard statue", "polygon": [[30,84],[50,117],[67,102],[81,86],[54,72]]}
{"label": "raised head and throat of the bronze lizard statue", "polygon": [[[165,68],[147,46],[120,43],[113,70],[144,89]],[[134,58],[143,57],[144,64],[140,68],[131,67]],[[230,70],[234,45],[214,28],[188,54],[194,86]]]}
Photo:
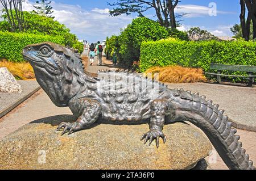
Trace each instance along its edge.
{"label": "raised head and throat of the bronze lizard statue", "polygon": [[27,45],[23,57],[32,65],[36,80],[56,106],[68,106],[82,85],[84,73],[79,53],[61,45],[45,42]]}

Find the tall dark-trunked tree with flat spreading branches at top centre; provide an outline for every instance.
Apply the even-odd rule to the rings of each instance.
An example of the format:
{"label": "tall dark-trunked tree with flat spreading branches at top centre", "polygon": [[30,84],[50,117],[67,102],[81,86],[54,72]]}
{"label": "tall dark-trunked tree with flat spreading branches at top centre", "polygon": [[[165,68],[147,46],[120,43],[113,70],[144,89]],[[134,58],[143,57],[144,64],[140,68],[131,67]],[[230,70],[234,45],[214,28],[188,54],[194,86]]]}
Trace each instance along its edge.
{"label": "tall dark-trunked tree with flat spreading branches at top centre", "polygon": [[175,8],[179,2],[179,0],[117,0],[117,2],[108,3],[108,5],[117,6],[110,10],[111,16],[130,15],[137,12],[140,17],[144,17],[143,12],[154,9],[161,26],[176,28],[176,18],[183,16],[175,14]]}

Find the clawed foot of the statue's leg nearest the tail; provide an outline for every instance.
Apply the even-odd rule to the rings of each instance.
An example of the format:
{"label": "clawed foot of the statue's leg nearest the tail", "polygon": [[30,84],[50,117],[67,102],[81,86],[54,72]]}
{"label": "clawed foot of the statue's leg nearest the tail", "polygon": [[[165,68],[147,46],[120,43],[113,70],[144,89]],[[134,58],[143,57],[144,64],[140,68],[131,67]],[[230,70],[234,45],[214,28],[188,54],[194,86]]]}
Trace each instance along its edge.
{"label": "clawed foot of the statue's leg nearest the tail", "polygon": [[163,139],[163,142],[165,144],[167,137],[164,135],[164,133],[162,131],[154,129],[154,130],[147,132],[146,134],[143,134],[141,137],[141,141],[145,139],[144,144],[146,144],[147,141],[149,140],[148,146],[150,146],[151,143],[155,140],[156,147],[159,148],[159,138],[160,137]]}

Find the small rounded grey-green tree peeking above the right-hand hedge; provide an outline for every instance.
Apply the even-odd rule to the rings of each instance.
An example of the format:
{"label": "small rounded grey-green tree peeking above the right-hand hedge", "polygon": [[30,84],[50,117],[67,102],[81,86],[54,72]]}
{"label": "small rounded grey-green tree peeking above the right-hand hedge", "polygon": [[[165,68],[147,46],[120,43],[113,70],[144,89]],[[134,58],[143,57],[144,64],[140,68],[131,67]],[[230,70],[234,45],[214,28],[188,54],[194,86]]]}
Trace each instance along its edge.
{"label": "small rounded grey-green tree peeking above the right-hand hedge", "polygon": [[188,37],[192,41],[201,41],[201,40],[213,40],[217,39],[212,33],[201,30],[199,27],[193,27],[188,30]]}

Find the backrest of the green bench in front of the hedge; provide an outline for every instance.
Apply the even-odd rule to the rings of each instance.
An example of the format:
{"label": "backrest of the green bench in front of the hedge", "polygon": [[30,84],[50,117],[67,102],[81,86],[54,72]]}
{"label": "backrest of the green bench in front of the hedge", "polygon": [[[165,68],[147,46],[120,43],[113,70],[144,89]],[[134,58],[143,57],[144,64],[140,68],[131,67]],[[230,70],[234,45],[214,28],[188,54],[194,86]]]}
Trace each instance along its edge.
{"label": "backrest of the green bench in front of the hedge", "polygon": [[211,70],[256,72],[256,66],[249,66],[249,65],[210,64],[210,69]]}

